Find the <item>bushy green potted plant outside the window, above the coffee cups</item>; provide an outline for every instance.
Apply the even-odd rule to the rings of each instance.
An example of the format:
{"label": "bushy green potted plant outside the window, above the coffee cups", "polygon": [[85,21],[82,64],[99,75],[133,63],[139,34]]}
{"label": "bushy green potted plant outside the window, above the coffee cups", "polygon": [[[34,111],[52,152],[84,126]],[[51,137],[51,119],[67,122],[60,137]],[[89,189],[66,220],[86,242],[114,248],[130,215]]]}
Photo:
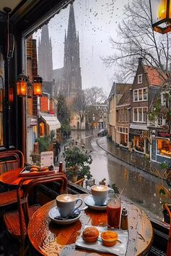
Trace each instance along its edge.
{"label": "bushy green potted plant outside the window, above the coffee cups", "polygon": [[91,154],[85,148],[70,143],[65,146],[63,156],[68,179],[72,182],[76,181],[76,177],[81,179],[86,176],[88,180],[91,179],[90,164],[93,160]]}

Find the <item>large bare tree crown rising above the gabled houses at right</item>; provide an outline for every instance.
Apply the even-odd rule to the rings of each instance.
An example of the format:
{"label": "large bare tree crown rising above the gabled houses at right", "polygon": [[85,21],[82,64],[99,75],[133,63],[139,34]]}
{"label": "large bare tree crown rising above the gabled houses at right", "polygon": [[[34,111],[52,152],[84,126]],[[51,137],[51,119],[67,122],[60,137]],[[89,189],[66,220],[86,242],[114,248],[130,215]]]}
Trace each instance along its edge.
{"label": "large bare tree crown rising above the gabled houses at right", "polygon": [[102,57],[107,66],[117,65],[117,80],[133,79],[138,57],[143,57],[146,65],[170,71],[170,33],[160,35],[152,30],[149,0],[132,1],[125,5],[124,14],[117,40],[110,39],[114,54]]}

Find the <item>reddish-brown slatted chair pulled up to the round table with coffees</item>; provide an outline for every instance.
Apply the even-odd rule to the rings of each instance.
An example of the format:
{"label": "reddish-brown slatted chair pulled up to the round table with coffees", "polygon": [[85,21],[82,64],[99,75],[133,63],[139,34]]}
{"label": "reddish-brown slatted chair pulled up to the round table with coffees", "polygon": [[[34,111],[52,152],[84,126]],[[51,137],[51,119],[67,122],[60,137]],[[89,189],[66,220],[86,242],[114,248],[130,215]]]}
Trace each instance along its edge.
{"label": "reddish-brown slatted chair pulled up to the round table with coffees", "polygon": [[67,179],[63,174],[46,175],[41,177],[35,177],[30,180],[27,185],[24,186],[24,193],[21,196],[21,187],[24,185],[25,180],[29,180],[30,177],[25,177],[21,180],[17,189],[18,211],[6,212],[4,214],[4,223],[7,227],[7,231],[16,239],[19,239],[21,248],[25,245],[25,236],[27,234],[28,221],[34,212],[40,207],[36,204],[28,207],[28,192],[33,186],[51,183],[54,181],[62,181],[62,191],[66,189]]}

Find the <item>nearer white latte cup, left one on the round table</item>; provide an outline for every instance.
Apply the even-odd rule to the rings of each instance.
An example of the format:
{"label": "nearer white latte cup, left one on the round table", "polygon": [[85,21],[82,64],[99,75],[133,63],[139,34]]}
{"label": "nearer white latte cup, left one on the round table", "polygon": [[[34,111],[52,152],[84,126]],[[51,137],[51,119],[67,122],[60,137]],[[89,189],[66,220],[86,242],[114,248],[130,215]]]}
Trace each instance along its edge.
{"label": "nearer white latte cup, left one on the round table", "polygon": [[[75,211],[75,209],[78,209],[81,204],[83,204],[83,200],[79,198],[75,198],[75,196],[71,194],[63,194],[57,196],[57,208],[59,210],[59,214],[61,217],[67,217],[67,215],[70,215],[72,212]],[[80,201],[80,204],[78,202]],[[76,205],[78,204],[78,205]]]}

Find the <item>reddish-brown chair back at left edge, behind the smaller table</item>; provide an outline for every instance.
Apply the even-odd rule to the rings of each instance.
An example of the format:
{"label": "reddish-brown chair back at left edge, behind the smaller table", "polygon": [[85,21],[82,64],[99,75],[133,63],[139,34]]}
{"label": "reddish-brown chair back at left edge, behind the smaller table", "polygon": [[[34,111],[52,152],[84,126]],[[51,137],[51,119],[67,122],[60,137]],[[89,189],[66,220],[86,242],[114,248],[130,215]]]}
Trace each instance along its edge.
{"label": "reddish-brown chair back at left edge, behind the smaller table", "polygon": [[1,174],[19,167],[24,167],[24,156],[21,151],[4,151],[0,153]]}

